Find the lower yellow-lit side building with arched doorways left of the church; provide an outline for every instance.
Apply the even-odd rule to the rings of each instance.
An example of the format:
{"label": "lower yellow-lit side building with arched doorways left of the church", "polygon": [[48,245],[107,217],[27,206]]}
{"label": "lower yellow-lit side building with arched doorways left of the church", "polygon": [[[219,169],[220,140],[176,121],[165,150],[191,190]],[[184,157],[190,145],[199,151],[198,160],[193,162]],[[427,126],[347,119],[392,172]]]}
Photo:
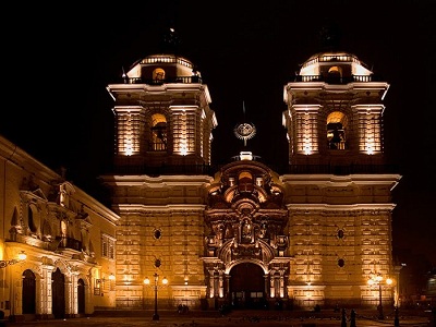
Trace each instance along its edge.
{"label": "lower yellow-lit side building with arched doorways left of the church", "polygon": [[118,215],[1,136],[0,175],[4,315],[80,317],[114,306]]}

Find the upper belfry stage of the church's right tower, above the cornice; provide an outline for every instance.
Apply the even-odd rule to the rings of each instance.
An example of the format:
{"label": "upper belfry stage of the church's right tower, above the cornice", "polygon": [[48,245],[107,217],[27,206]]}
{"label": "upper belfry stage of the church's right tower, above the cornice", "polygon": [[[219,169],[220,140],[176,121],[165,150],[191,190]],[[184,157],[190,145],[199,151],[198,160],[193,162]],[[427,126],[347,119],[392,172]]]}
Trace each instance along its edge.
{"label": "upper belfry stage of the church's right tower, above the cornice", "polygon": [[388,88],[352,53],[334,50],[308,58],[283,93],[291,169],[308,165],[330,172],[383,165]]}

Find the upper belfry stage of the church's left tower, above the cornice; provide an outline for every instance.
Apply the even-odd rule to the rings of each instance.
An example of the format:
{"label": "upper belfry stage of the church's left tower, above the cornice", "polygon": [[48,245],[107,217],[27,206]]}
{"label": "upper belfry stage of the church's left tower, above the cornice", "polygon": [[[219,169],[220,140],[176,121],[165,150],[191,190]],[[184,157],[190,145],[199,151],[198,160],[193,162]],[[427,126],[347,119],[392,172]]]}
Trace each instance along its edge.
{"label": "upper belfry stage of the church's left tower, above the cornice", "polygon": [[148,56],[107,90],[114,100],[117,168],[175,172],[210,164],[217,120],[207,85],[190,60],[174,53]]}

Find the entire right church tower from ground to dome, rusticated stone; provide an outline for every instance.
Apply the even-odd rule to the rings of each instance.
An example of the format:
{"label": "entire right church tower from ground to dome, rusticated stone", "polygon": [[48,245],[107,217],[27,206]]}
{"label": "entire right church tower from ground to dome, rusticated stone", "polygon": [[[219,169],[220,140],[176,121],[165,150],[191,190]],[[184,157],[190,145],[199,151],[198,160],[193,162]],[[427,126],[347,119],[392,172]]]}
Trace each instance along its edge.
{"label": "entire right church tower from ground to dome, rusticated stone", "polygon": [[[331,51],[312,56],[284,86],[290,171],[310,173],[282,177],[289,295],[299,304],[374,304],[378,290],[365,282],[396,275],[390,191],[400,177],[380,173],[388,88],[354,55]],[[393,303],[393,288],[383,292]]]}

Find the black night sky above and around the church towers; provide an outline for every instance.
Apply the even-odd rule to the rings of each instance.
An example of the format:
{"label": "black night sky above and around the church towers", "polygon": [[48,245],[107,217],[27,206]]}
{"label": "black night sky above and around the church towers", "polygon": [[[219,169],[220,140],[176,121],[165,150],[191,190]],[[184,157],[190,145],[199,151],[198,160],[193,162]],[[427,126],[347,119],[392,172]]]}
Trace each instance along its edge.
{"label": "black night sky above and around the church towers", "polygon": [[[335,24],[340,48],[390,83],[385,153],[402,175],[393,191],[395,253],[409,249],[436,266],[434,1],[128,2],[9,11],[0,134],[51,169],[65,167],[70,181],[99,198],[97,177],[114,144],[106,86],[121,83],[136,60],[160,53],[172,26],[180,55],[209,87],[218,120],[213,161],[247,149],[286,164],[283,86],[322,50],[323,26]],[[246,147],[233,134],[244,120],[257,128]]]}

